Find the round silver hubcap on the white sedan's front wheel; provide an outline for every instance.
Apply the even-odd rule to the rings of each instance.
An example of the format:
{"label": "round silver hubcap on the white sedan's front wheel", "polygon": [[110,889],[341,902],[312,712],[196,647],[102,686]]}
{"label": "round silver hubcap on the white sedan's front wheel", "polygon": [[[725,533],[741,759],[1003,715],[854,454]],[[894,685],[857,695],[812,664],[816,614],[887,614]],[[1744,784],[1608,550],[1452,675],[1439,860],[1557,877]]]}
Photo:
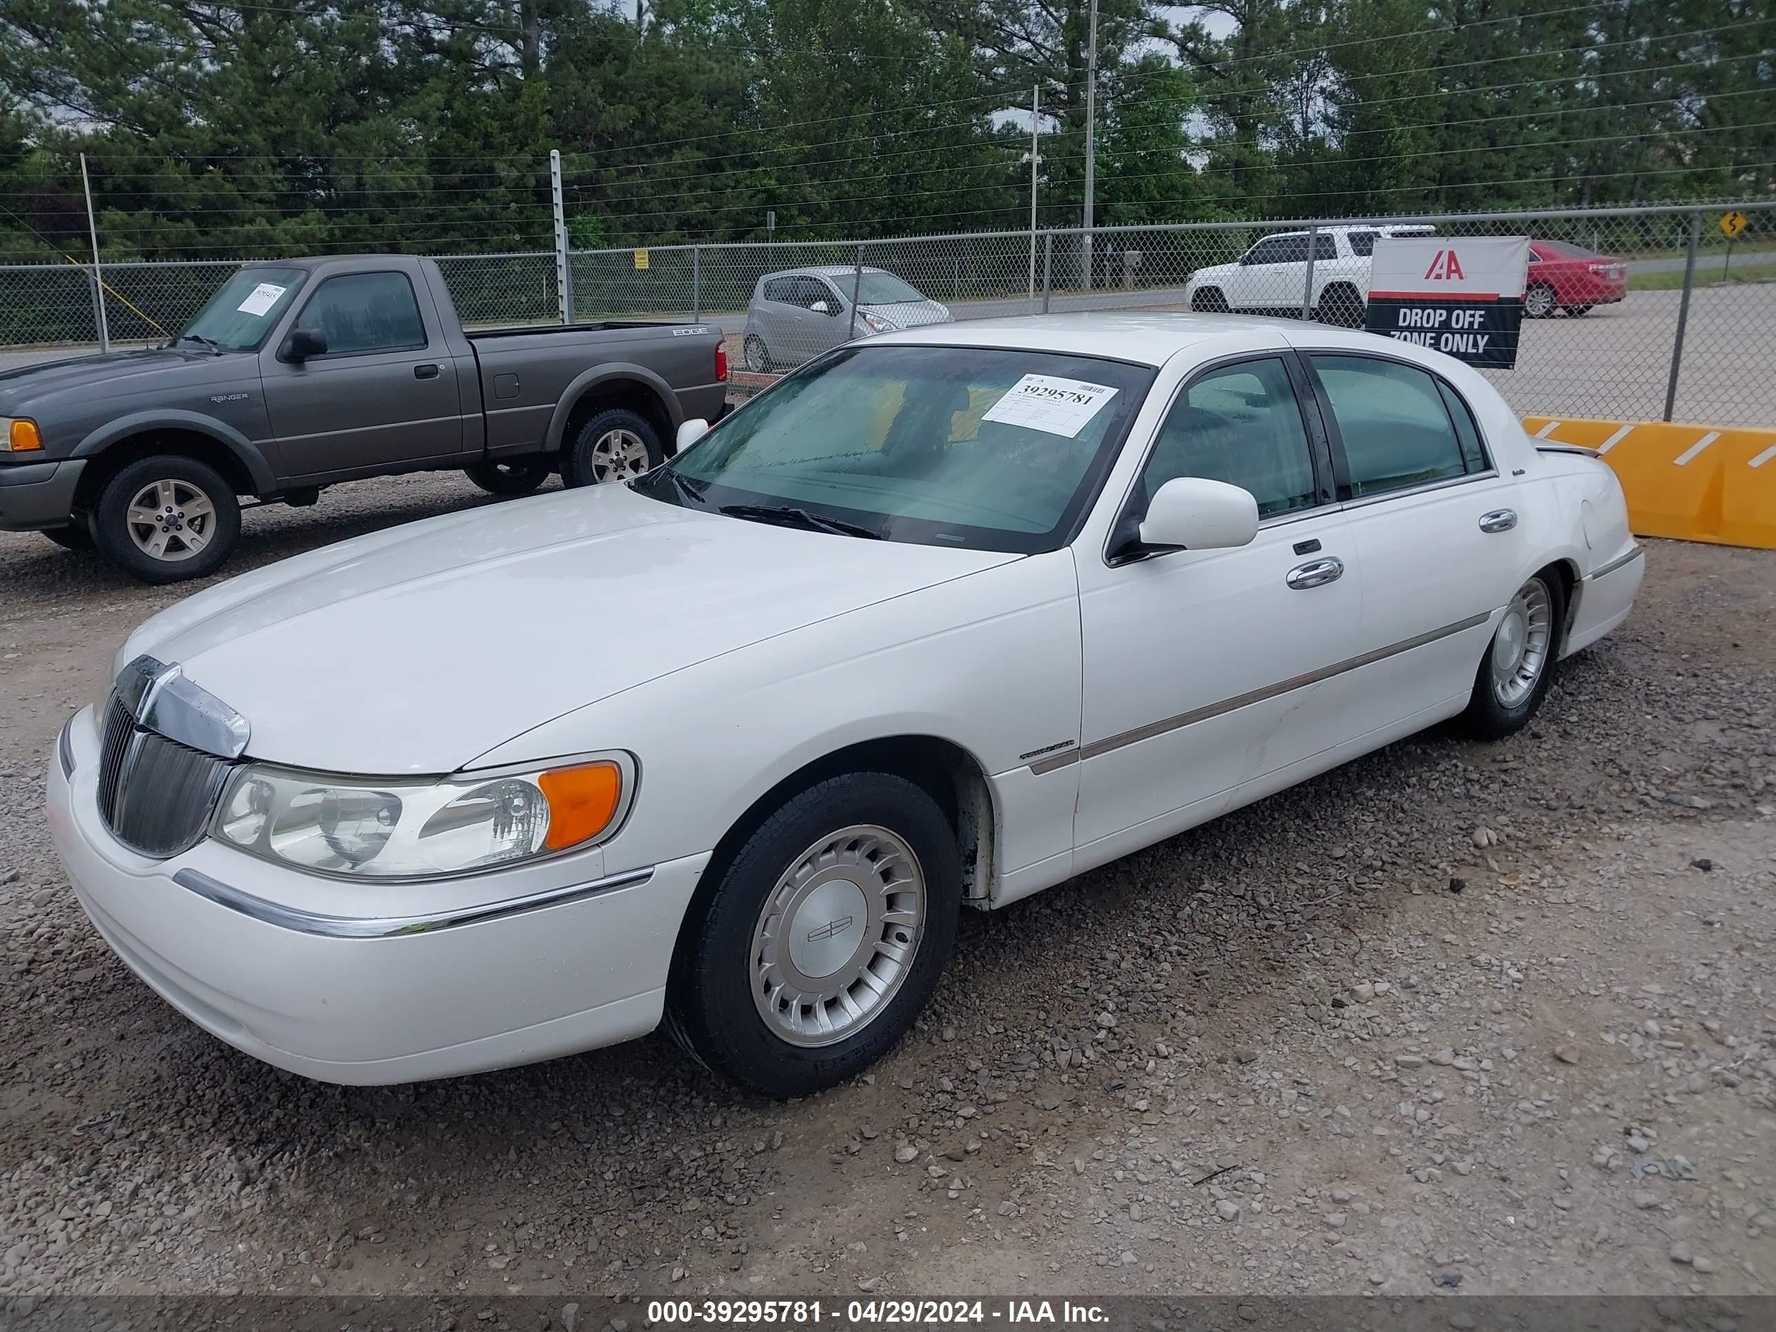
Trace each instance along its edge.
{"label": "round silver hubcap on the white sedan's front wheel", "polygon": [[925,874],[895,833],[844,828],[801,852],[753,929],[753,1003],[771,1034],[829,1046],[900,989],[925,932]]}

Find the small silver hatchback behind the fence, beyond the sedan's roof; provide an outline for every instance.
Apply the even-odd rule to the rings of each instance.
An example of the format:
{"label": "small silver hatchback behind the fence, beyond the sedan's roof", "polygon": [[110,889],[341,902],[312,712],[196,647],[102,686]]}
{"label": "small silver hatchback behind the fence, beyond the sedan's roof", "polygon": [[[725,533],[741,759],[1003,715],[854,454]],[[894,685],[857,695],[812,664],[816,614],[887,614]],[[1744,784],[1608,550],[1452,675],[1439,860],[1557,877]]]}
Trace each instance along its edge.
{"label": "small silver hatchback behind the fence, beyond the sedan's roof", "polygon": [[746,307],[746,368],[787,369],[852,337],[950,321],[947,307],[881,268],[785,268],[765,274],[753,288]]}

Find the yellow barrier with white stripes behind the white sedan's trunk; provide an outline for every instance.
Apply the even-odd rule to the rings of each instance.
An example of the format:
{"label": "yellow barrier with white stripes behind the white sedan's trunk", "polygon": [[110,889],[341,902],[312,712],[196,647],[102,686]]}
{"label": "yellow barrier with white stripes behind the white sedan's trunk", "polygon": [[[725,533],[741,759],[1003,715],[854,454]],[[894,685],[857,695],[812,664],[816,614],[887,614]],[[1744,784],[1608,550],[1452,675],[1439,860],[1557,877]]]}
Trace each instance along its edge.
{"label": "yellow barrier with white stripes behind the white sedan's trunk", "polygon": [[1526,416],[1536,439],[1597,449],[1641,536],[1776,551],[1776,430]]}

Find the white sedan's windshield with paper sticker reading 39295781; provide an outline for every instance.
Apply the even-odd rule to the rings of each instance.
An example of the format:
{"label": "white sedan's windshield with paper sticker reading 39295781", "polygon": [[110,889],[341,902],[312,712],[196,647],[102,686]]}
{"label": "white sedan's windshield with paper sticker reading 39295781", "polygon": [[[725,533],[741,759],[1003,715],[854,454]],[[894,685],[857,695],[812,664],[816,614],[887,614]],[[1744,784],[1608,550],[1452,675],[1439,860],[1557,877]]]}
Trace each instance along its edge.
{"label": "white sedan's windshield with paper sticker reading 39295781", "polygon": [[758,506],[801,510],[895,542],[1053,551],[1073,540],[1153,377],[1053,352],[851,346],[634,487],[686,508],[746,504],[758,520]]}

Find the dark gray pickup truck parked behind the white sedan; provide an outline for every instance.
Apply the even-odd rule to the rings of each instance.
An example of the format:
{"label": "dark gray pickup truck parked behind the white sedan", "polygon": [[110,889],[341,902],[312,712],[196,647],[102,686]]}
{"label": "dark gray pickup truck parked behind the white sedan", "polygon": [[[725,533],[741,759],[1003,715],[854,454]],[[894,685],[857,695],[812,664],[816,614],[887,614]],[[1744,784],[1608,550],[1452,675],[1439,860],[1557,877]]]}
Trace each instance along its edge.
{"label": "dark gray pickup truck parked behind the white sedan", "polygon": [[240,496],[462,469],[497,496],[639,476],[726,410],[721,330],[465,334],[432,259],[245,265],[170,345],[0,373],[0,529],[96,545],[147,583],[202,577]]}

